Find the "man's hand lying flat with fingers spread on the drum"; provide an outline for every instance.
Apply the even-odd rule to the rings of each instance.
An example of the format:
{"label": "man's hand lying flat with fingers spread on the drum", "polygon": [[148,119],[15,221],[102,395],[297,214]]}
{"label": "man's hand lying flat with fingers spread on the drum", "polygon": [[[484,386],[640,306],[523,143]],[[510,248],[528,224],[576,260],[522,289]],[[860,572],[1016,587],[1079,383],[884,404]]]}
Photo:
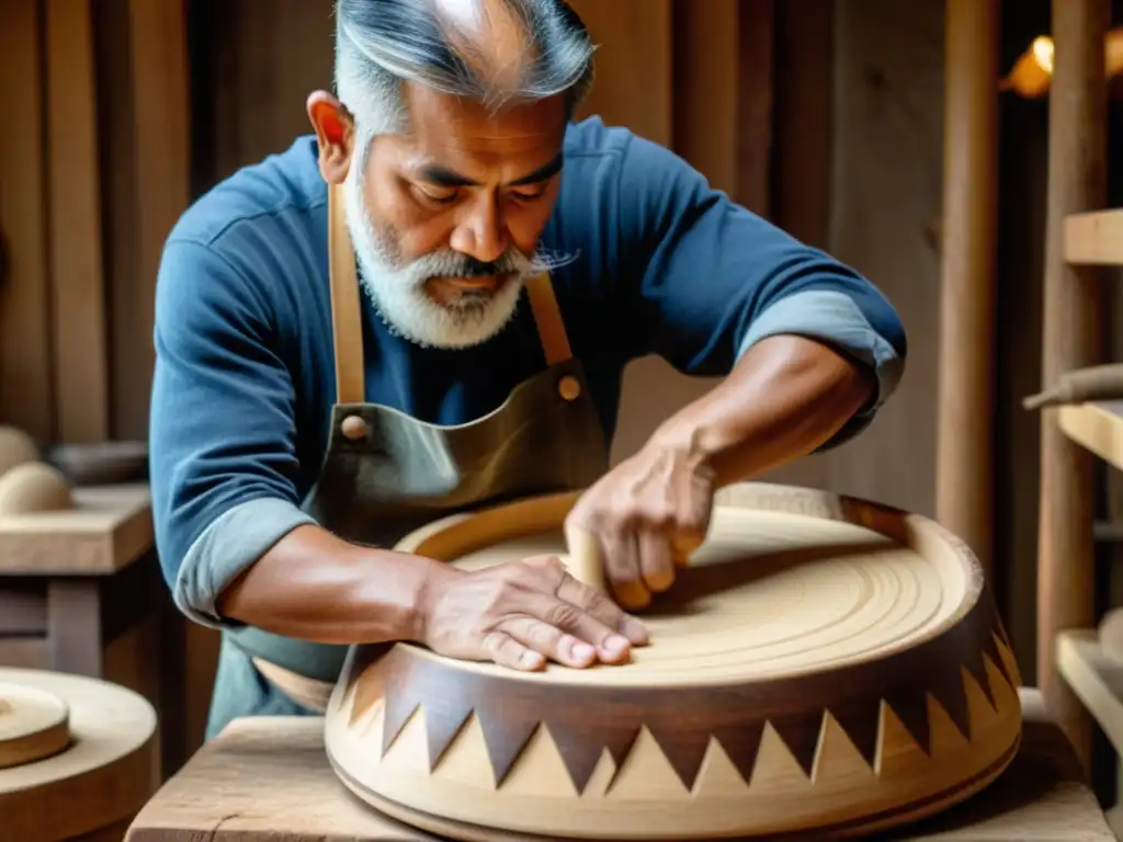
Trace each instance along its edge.
{"label": "man's hand lying flat with fingers spread on the drum", "polygon": [[463,660],[531,671],[623,663],[647,631],[560,559],[539,556],[482,570],[435,569],[419,605],[419,642]]}

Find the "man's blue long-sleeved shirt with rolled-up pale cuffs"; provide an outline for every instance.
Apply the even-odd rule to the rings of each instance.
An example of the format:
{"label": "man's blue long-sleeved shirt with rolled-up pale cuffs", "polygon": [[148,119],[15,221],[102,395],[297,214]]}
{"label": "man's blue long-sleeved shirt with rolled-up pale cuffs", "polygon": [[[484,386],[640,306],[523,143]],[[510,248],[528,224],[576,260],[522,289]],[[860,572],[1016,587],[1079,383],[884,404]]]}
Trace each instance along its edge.
{"label": "man's blue long-sleeved shirt with rolled-up pale cuffs", "polygon": [[[723,375],[777,333],[828,342],[877,374],[869,423],[901,376],[904,329],[867,280],[733,203],[682,158],[599,119],[569,127],[541,245],[575,356],[615,429],[627,363],[658,354]],[[441,424],[499,405],[545,366],[523,303],[490,341],[427,349],[364,295],[366,397]],[[156,287],[150,472],[156,542],[177,605],[226,623],[221,589],[296,525],[335,402],[327,185],[313,137],[246,167],[171,232]]]}

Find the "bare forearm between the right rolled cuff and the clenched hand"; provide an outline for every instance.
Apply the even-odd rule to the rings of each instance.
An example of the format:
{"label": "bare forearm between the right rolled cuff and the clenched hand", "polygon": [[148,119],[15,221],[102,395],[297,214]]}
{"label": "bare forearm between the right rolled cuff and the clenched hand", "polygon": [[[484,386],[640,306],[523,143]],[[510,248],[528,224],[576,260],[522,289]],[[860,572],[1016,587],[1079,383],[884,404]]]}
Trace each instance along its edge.
{"label": "bare forearm between the right rolled cuff and the clenched hand", "polygon": [[774,336],[730,375],[668,419],[655,447],[687,448],[719,486],[805,456],[829,441],[874,395],[874,373],[821,342]]}

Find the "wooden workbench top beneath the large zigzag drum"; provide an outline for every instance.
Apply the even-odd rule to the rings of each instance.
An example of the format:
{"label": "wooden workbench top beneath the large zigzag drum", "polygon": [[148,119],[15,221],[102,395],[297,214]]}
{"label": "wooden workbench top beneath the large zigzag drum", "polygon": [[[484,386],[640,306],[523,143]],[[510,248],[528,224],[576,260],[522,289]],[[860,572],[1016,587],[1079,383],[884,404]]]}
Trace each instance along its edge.
{"label": "wooden workbench top beneath the large zigzag drum", "polygon": [[[894,840],[1114,842],[1060,729],[1022,690],[1022,750],[984,794]],[[156,794],[127,842],[435,842],[373,812],[338,782],[320,719],[238,720]]]}

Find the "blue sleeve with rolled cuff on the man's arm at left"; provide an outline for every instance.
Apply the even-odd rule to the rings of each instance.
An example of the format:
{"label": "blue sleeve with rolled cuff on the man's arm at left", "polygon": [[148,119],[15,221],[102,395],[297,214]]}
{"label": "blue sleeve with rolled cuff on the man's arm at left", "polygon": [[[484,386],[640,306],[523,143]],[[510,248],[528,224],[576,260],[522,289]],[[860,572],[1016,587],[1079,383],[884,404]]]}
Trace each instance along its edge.
{"label": "blue sleeve with rolled cuff on the man's arm at left", "polygon": [[170,240],[156,286],[153,519],[176,605],[204,625],[299,507],[293,383],[267,291],[206,244]]}

